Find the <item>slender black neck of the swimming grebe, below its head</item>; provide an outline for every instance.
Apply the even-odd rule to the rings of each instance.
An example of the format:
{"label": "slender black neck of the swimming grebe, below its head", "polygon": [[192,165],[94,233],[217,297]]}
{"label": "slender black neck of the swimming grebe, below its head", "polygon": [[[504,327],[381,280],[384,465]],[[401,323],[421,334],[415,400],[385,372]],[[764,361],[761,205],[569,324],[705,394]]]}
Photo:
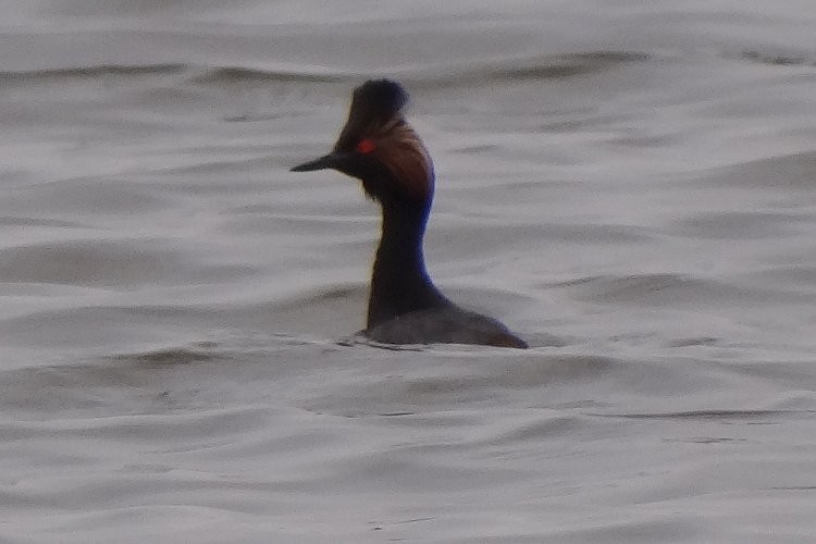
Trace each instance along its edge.
{"label": "slender black neck of the swimming grebe, below its head", "polygon": [[382,236],[369,295],[368,329],[415,310],[444,306],[431,282],[422,242],[431,210],[426,202],[383,202]]}

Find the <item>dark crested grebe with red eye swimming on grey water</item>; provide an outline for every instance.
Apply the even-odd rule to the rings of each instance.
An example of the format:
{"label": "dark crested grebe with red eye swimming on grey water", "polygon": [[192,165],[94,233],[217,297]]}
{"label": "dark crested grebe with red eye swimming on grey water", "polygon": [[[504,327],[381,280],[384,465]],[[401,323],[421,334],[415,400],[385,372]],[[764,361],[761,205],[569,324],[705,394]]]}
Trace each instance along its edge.
{"label": "dark crested grebe with red eye swimming on grey water", "polygon": [[382,344],[473,344],[527,348],[498,320],[452,302],[433,284],[423,254],[433,202],[433,161],[405,119],[408,92],[391,79],[355,88],[332,151],[292,169],[331,169],[359,180],[382,209],[368,318],[361,334]]}

